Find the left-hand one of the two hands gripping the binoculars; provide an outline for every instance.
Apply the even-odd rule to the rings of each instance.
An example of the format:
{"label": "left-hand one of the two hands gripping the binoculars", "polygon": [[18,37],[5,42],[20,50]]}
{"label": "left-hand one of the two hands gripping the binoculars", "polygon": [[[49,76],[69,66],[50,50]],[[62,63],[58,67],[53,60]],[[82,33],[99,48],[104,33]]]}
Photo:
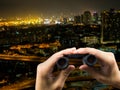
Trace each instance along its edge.
{"label": "left-hand one of the two hands gripping the binoculars", "polygon": [[35,90],[62,90],[65,80],[70,72],[75,69],[74,65],[69,65],[67,69],[61,70],[59,75],[54,77],[52,71],[56,61],[66,55],[74,54],[76,48],[69,48],[53,54],[43,63],[37,66]]}

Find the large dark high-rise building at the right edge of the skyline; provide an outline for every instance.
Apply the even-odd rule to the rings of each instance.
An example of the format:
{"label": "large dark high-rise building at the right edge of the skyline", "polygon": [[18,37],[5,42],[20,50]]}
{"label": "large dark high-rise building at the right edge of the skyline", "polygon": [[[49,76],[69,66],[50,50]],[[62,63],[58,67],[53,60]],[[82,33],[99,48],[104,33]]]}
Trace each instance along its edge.
{"label": "large dark high-rise building at the right edge of the skyline", "polygon": [[101,13],[101,42],[120,43],[120,10],[110,9]]}

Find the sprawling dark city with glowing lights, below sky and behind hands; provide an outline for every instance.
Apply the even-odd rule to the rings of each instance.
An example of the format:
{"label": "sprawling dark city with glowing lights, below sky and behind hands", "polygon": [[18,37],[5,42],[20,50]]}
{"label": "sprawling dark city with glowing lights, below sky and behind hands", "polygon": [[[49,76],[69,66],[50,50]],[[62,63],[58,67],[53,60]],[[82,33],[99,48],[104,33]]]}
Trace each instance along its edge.
{"label": "sprawling dark city with glowing lights, below sky and behind hands", "polygon": [[[29,86],[34,89],[37,65],[47,60],[54,53],[66,48],[92,47],[113,52],[116,61],[119,62],[119,16],[120,10],[110,9],[99,13],[87,10],[81,14],[70,16],[62,14],[51,17],[43,17],[42,15],[1,17],[0,73],[3,77],[3,80],[0,80],[1,87],[5,87],[3,90],[8,90],[6,86],[16,84],[20,86],[21,83],[30,82],[32,79],[33,82],[30,82]],[[71,59],[70,64],[79,67],[82,62]],[[118,64],[120,66],[120,62]],[[95,68],[98,66],[97,63]],[[73,80],[73,78],[75,79]],[[88,73],[76,69],[68,77],[66,85],[74,83],[73,88],[78,87],[78,79],[80,80],[80,89],[81,87],[85,89],[85,86],[88,87],[88,85],[93,88],[91,84],[97,84],[91,82],[93,78]],[[85,83],[82,84],[81,81],[85,81]],[[88,85],[86,85],[86,81]],[[23,88],[26,86],[28,88],[28,85],[24,85]],[[13,86],[10,87],[13,88]],[[67,88],[69,87],[72,87],[72,84],[67,86]],[[105,86],[105,88],[108,89],[109,86]],[[2,89],[0,88],[0,90]]]}

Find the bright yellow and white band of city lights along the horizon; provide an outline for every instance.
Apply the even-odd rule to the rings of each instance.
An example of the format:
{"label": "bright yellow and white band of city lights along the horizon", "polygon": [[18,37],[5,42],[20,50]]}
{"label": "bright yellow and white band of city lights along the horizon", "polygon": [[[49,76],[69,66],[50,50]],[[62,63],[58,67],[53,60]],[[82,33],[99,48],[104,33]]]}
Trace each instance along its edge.
{"label": "bright yellow and white band of city lights along the horizon", "polygon": [[[73,18],[66,18],[67,22],[73,21]],[[41,18],[29,16],[26,18],[16,17],[14,19],[3,19],[0,18],[0,26],[19,26],[19,25],[36,25],[36,24],[62,24],[64,22],[63,18]]]}

